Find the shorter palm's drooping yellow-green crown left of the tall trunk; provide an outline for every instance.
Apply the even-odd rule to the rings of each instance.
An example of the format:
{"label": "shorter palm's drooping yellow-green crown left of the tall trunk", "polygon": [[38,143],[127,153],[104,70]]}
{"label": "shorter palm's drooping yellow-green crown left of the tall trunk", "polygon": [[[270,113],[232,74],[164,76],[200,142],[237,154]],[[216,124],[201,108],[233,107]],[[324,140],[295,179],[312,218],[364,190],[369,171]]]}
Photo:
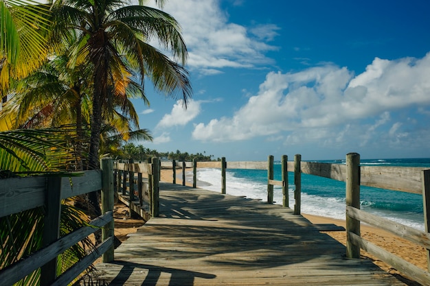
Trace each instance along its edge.
{"label": "shorter palm's drooping yellow-green crown left of the tall trunk", "polygon": [[[82,66],[83,67],[83,66]],[[76,123],[82,126],[82,102],[88,97],[86,71],[67,68],[67,57],[57,56],[16,82],[0,118],[9,117],[16,128],[47,128]]]}

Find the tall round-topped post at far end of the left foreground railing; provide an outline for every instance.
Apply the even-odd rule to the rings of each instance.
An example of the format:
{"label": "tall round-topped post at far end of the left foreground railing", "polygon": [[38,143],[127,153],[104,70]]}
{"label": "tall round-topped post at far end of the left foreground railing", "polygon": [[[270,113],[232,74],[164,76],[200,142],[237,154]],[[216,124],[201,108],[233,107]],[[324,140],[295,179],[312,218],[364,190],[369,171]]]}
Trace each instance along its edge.
{"label": "tall round-topped post at far end of the left foreground railing", "polygon": [[[102,158],[102,213],[113,211],[113,160]],[[113,237],[113,220],[102,228],[102,241]],[[113,261],[113,246],[102,254],[103,262]]]}

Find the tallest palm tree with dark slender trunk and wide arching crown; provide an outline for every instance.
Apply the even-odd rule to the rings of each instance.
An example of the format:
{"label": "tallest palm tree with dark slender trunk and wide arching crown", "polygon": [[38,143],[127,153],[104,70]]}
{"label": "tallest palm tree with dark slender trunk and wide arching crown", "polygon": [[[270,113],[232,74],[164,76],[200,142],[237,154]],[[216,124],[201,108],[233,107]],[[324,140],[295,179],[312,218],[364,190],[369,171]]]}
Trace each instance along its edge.
{"label": "tallest palm tree with dark slender trunk and wide arching crown", "polygon": [[[78,33],[71,64],[89,59],[93,69],[93,109],[89,150],[90,169],[98,168],[98,151],[103,108],[111,108],[115,95],[124,95],[133,71],[144,86],[146,76],[155,88],[176,97],[180,92],[184,104],[191,96],[185,64],[187,49],[172,16],[142,5],[124,5],[121,0],[63,0],[54,3],[56,36],[67,38]],[[163,1],[158,1],[159,5]],[[165,49],[171,49],[170,60],[148,44],[157,38]]]}

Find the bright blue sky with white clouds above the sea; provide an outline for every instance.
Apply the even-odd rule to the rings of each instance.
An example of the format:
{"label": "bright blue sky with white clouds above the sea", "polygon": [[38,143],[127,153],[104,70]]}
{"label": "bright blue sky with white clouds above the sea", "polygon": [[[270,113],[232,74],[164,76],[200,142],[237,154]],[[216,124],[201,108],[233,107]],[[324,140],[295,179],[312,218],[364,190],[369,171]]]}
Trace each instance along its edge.
{"label": "bright blue sky with white clouds above the sea", "polygon": [[[159,152],[430,157],[430,1],[169,0],[192,100],[133,103]],[[149,87],[148,87],[149,86]]]}

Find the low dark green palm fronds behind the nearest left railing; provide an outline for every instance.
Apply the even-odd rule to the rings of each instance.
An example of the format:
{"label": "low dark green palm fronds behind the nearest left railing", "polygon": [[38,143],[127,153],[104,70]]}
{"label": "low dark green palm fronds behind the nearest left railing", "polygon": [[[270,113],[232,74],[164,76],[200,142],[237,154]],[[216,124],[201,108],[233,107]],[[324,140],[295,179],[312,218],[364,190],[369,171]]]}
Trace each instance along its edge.
{"label": "low dark green palm fronds behind the nearest left railing", "polygon": [[[75,162],[71,151],[77,141],[73,128],[0,132],[0,179],[47,173],[71,176],[67,169]],[[44,216],[44,209],[39,207],[0,217],[0,269],[43,246]],[[85,213],[73,207],[70,201],[64,201],[61,206],[60,236],[73,232],[88,221]],[[92,246],[93,243],[87,238],[60,254],[58,274],[82,259],[86,249]],[[18,285],[38,285],[40,276],[39,269],[23,278]]]}

